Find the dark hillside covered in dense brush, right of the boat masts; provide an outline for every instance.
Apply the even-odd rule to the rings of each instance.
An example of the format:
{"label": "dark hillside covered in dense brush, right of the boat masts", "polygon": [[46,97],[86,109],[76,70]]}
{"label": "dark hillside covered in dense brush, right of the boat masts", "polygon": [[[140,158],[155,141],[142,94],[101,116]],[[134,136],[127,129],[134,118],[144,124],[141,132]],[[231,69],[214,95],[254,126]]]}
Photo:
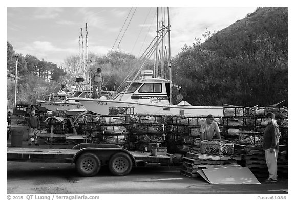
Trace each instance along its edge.
{"label": "dark hillside covered in dense brush, right of the boat masts", "polygon": [[258,8],[205,33],[173,60],[174,80],[194,105],[288,105],[288,8]]}

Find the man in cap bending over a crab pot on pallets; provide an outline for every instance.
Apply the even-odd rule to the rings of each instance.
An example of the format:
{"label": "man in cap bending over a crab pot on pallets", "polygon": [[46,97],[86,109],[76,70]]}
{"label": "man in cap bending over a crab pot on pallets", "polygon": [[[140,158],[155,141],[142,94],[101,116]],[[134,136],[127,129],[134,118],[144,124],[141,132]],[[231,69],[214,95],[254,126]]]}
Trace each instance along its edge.
{"label": "man in cap bending over a crab pot on pallets", "polygon": [[206,121],[202,123],[200,128],[200,142],[203,140],[212,140],[215,133],[218,139],[221,139],[218,124],[213,120],[214,116],[208,115]]}

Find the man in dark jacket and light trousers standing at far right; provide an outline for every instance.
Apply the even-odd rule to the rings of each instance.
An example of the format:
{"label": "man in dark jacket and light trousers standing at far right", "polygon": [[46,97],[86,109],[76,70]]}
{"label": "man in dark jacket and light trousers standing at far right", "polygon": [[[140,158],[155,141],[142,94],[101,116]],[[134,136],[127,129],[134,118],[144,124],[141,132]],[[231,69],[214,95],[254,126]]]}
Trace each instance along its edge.
{"label": "man in dark jacket and light trousers standing at far right", "polygon": [[265,161],[269,178],[265,182],[277,182],[280,132],[277,121],[275,120],[275,114],[267,113],[266,119],[261,125],[266,125],[263,136],[263,149],[265,150]]}

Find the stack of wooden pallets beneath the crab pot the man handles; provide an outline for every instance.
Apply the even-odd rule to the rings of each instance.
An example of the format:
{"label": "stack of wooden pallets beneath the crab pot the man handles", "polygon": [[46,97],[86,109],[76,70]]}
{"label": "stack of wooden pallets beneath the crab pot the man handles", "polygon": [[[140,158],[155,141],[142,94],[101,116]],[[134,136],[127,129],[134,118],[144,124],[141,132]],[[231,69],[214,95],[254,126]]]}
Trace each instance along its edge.
{"label": "stack of wooden pallets beneath the crab pot the man handles", "polygon": [[186,157],[183,157],[183,166],[181,174],[197,178],[200,175],[198,170],[208,168],[218,168],[224,165],[237,165],[237,162],[241,160],[239,155],[207,155],[200,153],[187,153]]}

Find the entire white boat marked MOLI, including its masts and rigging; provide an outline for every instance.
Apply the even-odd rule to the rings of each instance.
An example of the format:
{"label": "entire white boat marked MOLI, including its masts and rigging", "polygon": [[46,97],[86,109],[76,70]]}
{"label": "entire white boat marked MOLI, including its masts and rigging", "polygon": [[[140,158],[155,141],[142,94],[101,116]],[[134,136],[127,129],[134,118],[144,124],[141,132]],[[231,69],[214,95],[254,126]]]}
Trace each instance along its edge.
{"label": "entire white boat marked MOLI, including its masts and rigging", "polygon": [[[169,8],[168,11],[168,25],[158,30],[157,23],[157,36],[153,39],[150,46],[142,54],[140,60],[142,65],[138,69],[134,78],[130,79],[134,72],[130,72],[125,78],[125,82],[128,86],[117,94],[111,100],[101,99],[89,99],[89,98],[70,98],[70,100],[80,102],[91,113],[107,115],[109,114],[109,107],[134,107],[136,114],[166,114],[166,115],[189,115],[189,116],[206,116],[212,114],[214,116],[223,116],[223,107],[221,106],[192,106],[192,105],[172,105],[172,87],[175,86],[172,83],[171,75],[171,51],[170,51],[170,23],[169,23]],[[157,19],[158,21],[158,19]],[[168,35],[168,53],[167,49],[164,51],[164,38]],[[161,45],[161,76],[158,76],[158,62],[156,63],[155,73],[151,70],[143,70],[146,61],[153,55],[154,52],[158,52],[158,46]],[[156,54],[157,56],[158,54]],[[166,79],[164,63],[167,59],[169,79]],[[158,58],[156,58],[158,61]],[[138,79],[139,73],[141,73]]]}

